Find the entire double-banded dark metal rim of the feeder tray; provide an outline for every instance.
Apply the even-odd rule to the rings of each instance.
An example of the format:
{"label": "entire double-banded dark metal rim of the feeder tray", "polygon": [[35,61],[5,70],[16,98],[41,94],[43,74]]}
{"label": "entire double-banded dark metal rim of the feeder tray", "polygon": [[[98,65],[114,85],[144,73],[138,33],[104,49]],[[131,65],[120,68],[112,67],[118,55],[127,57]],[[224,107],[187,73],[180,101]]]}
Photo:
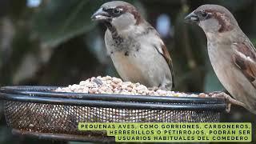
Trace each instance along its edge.
{"label": "entire double-banded dark metal rim of the feeder tray", "polygon": [[226,110],[226,103],[222,99],[217,98],[146,97],[115,94],[55,93],[46,91],[54,89],[56,89],[55,86],[7,86],[1,88],[0,98],[15,102],[139,110]]}

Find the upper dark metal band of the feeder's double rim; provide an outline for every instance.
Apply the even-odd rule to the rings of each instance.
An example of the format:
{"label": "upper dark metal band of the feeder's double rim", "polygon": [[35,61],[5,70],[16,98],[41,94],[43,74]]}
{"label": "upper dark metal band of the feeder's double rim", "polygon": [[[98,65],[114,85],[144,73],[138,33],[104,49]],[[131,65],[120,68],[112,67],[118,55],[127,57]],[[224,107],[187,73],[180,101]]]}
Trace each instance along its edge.
{"label": "upper dark metal band of the feeder's double rim", "polygon": [[[162,103],[193,103],[193,104],[225,104],[222,98],[189,98],[174,96],[142,96],[123,94],[86,94],[86,93],[66,93],[54,92],[56,86],[5,86],[0,88],[0,93],[20,94],[37,97],[50,98],[73,98],[82,100],[101,100],[119,102],[162,102]],[[48,91],[46,91],[48,90]],[[0,97],[1,98],[1,97]]]}

